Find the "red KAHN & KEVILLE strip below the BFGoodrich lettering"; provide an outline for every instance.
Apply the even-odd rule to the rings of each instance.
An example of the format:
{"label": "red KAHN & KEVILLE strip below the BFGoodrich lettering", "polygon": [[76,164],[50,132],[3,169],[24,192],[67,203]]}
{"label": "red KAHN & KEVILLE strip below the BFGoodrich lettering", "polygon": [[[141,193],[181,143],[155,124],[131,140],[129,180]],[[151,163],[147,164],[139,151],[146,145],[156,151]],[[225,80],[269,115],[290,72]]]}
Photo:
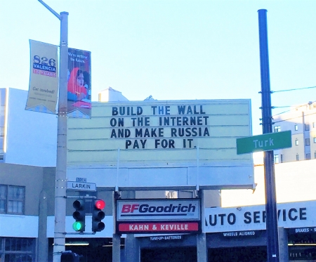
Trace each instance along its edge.
{"label": "red KAHN & KEVILLE strip below the BFGoodrich lettering", "polygon": [[198,232],[198,222],[119,223],[119,232]]}

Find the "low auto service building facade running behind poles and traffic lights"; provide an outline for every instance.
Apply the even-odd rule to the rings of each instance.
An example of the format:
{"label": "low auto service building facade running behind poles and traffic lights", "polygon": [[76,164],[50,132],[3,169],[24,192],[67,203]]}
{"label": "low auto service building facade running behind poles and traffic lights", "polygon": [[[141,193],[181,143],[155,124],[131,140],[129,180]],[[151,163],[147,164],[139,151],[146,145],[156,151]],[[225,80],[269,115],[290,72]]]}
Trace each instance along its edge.
{"label": "low auto service building facade running behind poles and traffic lights", "polygon": [[[276,165],[281,261],[316,259],[315,167],[315,159]],[[222,190],[224,207],[204,210],[207,261],[266,261],[263,166],[254,172],[255,192]],[[1,163],[0,181],[1,261],[53,261],[55,168]],[[67,190],[66,249],[83,256],[82,261],[112,261],[113,193],[96,189]],[[95,235],[72,229],[72,203],[86,195],[106,202],[105,230]],[[131,195],[121,192],[121,199]],[[91,232],[88,208],[86,232]],[[197,261],[198,241],[195,234],[121,235],[121,261]]]}

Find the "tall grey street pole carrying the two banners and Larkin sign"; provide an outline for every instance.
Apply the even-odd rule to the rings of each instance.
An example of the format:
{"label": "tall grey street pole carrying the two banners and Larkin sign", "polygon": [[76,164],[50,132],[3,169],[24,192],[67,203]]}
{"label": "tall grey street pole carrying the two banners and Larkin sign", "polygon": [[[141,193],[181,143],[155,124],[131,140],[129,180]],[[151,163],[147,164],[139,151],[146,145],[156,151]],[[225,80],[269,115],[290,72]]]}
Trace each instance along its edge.
{"label": "tall grey street pole carrying the two banners and Larkin sign", "polygon": [[55,174],[55,226],[53,262],[60,262],[65,251],[65,219],[67,189],[67,70],[68,70],[68,15],[67,12],[56,13],[50,6],[39,0],[48,11],[60,20],[60,72],[58,98],[58,133]]}

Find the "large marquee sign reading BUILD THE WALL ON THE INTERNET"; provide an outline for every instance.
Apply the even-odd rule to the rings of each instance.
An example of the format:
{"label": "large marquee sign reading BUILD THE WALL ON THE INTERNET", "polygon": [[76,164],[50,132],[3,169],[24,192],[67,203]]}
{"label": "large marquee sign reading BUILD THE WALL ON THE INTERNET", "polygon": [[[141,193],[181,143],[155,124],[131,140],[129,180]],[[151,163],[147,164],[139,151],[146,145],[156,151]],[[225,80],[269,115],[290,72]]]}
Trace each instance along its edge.
{"label": "large marquee sign reading BUILD THE WALL ON THE INTERNET", "polygon": [[250,135],[248,99],[93,103],[91,120],[68,121],[67,175],[121,188],[254,188],[252,156],[236,152]]}

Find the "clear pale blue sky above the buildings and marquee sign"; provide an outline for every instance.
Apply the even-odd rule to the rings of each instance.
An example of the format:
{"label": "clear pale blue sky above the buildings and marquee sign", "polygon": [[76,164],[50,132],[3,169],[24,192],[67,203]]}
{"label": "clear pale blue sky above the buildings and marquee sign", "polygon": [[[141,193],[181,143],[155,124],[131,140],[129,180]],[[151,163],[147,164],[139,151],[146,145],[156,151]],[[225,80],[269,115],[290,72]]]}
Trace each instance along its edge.
{"label": "clear pale blue sky above the buildings and marquee sign", "polygon": [[[258,9],[268,10],[271,90],[316,86],[315,0],[45,2],[69,12],[69,47],[91,51],[93,100],[109,86],[129,100],[250,98],[260,134]],[[59,45],[60,22],[37,0],[1,0],[0,15],[0,87],[27,90],[29,39]],[[275,107],[314,100],[315,89],[272,94]]]}

